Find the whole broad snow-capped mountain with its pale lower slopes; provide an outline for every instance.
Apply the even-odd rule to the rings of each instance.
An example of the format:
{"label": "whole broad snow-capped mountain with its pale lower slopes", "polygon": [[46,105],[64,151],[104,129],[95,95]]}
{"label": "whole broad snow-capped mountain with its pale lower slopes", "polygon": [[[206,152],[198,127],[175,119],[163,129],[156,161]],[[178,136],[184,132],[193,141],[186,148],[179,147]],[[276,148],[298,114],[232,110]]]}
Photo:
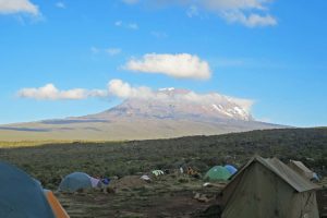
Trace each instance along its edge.
{"label": "whole broad snow-capped mountain with its pale lower slopes", "polygon": [[146,140],[214,135],[280,125],[257,122],[244,100],[166,88],[133,97],[107,111],[0,126],[0,140]]}

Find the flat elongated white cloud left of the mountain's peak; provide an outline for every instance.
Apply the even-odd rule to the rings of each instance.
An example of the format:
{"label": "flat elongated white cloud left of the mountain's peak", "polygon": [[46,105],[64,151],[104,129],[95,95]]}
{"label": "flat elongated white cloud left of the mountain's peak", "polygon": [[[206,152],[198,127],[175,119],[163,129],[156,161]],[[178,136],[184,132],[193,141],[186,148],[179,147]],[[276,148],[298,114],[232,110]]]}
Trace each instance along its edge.
{"label": "flat elongated white cloud left of the mountain's peak", "polygon": [[38,88],[22,88],[17,92],[21,98],[34,98],[38,100],[80,100],[88,97],[104,97],[107,93],[105,90],[93,89],[87,90],[83,88],[74,88],[69,90],[59,90],[53,84],[47,84]]}

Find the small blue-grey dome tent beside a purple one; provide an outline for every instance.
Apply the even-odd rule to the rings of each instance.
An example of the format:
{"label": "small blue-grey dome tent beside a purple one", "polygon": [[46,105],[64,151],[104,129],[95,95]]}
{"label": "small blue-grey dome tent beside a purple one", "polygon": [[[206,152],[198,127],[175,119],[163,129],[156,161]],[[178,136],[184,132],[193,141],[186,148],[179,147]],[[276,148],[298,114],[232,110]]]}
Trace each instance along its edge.
{"label": "small blue-grey dome tent beside a purple one", "polygon": [[73,172],[63,178],[59,191],[76,192],[77,190],[92,189],[90,177],[84,172]]}

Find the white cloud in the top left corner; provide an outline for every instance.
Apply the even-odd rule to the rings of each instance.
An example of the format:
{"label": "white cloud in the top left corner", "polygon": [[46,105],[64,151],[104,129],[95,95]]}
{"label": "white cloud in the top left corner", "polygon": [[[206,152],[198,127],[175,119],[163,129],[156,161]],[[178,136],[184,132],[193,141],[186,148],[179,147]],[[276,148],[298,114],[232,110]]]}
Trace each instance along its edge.
{"label": "white cloud in the top left corner", "polygon": [[39,15],[38,7],[28,0],[0,0],[0,14],[14,13]]}

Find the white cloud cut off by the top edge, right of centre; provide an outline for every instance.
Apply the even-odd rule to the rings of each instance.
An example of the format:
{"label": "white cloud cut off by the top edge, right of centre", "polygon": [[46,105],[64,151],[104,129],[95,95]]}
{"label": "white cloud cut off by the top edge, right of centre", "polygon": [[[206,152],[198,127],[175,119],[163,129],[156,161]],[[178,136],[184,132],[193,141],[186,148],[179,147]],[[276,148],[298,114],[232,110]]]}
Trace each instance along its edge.
{"label": "white cloud cut off by the top edge, right of centre", "polygon": [[240,23],[247,27],[274,26],[277,20],[269,14],[268,4],[274,0],[122,0],[124,3],[154,4],[156,7],[182,5],[186,15],[199,15],[199,11],[217,14],[229,23]]}

